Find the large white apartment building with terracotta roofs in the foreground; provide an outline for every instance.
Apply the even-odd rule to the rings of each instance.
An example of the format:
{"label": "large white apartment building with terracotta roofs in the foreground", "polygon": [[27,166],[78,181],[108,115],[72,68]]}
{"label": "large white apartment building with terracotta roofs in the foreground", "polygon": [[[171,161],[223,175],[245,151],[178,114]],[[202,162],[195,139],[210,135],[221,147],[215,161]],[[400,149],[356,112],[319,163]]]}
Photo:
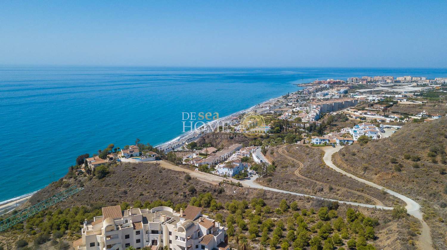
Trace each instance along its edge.
{"label": "large white apartment building with terracotta roofs in the foreground", "polygon": [[75,250],[125,250],[150,247],[160,250],[227,250],[225,227],[202,215],[202,208],[188,205],[177,213],[170,207],[153,209],[102,208],[102,216],[84,221]]}

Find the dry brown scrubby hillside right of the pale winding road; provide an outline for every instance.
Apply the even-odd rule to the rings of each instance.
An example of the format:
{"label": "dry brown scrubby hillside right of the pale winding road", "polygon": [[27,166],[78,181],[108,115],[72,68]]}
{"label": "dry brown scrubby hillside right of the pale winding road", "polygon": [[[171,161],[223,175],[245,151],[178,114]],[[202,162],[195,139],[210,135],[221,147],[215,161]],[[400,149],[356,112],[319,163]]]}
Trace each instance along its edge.
{"label": "dry brown scrubby hillside right of the pale winding road", "polygon": [[409,123],[391,137],[346,146],[335,164],[422,204],[435,245],[447,249],[447,118]]}

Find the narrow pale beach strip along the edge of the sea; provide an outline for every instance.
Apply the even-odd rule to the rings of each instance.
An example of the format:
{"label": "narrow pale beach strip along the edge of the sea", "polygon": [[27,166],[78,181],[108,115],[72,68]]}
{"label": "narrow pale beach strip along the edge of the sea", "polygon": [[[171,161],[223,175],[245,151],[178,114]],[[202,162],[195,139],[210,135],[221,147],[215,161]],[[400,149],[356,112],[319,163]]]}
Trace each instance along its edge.
{"label": "narrow pale beach strip along the edge of the sea", "polygon": [[[299,91],[299,90],[296,90],[296,91]],[[295,92],[296,92],[296,91],[295,91]],[[292,92],[292,93],[294,93],[294,92]],[[189,135],[192,135],[192,134],[194,134],[194,133],[198,133],[203,127],[211,126],[211,125],[213,125],[213,124],[215,124],[215,123],[218,123],[219,121],[228,119],[229,117],[232,117],[232,116],[235,116],[235,115],[245,114],[245,113],[247,113],[247,112],[253,111],[253,109],[256,108],[257,106],[263,105],[263,104],[265,104],[265,103],[267,103],[267,102],[274,101],[274,100],[276,100],[276,99],[278,99],[278,98],[281,98],[282,96],[283,96],[283,95],[278,96],[278,97],[274,97],[274,98],[270,98],[270,99],[268,99],[268,100],[266,100],[266,101],[264,101],[264,102],[261,102],[261,103],[259,103],[259,104],[256,104],[256,105],[254,105],[254,106],[252,106],[252,107],[249,107],[249,108],[247,108],[247,109],[244,109],[244,110],[241,110],[241,111],[237,111],[237,112],[232,113],[232,114],[230,114],[230,115],[227,115],[227,116],[225,116],[225,117],[222,117],[222,118],[219,118],[219,119],[210,121],[210,122],[208,122],[208,123],[205,123],[204,125],[202,125],[202,126],[196,128],[196,129],[194,129],[194,130],[192,130],[192,131],[184,132],[184,133],[182,133],[181,135],[175,137],[174,139],[171,139],[171,140],[169,140],[169,141],[167,141],[167,142],[158,144],[158,145],[154,146],[154,148],[159,148],[159,147],[167,146],[169,143],[173,143],[173,142],[175,142],[175,141],[179,141],[179,140],[181,140],[182,138],[188,137]],[[207,134],[207,133],[208,133],[208,132],[205,132],[204,134]],[[47,185],[48,185],[48,184],[47,184]],[[47,186],[47,185],[45,185],[45,186]],[[11,198],[11,199],[8,199],[8,200],[5,200],[5,201],[0,201],[0,211],[2,210],[3,207],[8,206],[11,202],[16,202],[16,201],[19,201],[19,200],[23,200],[23,199],[25,199],[25,198],[26,198],[26,199],[29,199],[31,196],[33,196],[35,193],[39,192],[40,190],[42,190],[42,189],[38,189],[38,190],[36,190],[36,191],[34,191],[34,192],[27,193],[27,194],[24,194],[24,195],[15,197],[15,198]]]}

